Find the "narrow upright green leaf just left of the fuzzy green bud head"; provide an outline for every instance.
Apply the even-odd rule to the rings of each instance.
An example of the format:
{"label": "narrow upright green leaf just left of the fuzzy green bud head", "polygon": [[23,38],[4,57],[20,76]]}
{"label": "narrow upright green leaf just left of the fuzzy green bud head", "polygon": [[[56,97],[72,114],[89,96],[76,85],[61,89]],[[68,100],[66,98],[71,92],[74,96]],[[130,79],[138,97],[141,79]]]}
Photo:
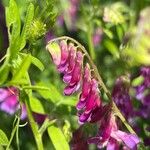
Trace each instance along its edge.
{"label": "narrow upright green leaf just left of the fuzzy green bud head", "polygon": [[26,44],[27,32],[28,32],[29,28],[31,27],[33,17],[34,17],[34,5],[32,3],[30,3],[30,5],[28,6],[28,9],[27,9],[26,19],[25,19],[25,23],[24,23],[22,33],[21,33],[20,50],[23,49]]}

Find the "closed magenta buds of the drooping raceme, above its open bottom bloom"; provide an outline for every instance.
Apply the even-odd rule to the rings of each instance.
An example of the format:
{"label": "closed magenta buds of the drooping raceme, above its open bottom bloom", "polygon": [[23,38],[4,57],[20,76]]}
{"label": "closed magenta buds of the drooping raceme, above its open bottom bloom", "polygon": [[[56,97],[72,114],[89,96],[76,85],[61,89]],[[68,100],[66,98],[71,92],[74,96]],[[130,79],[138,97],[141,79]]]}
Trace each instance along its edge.
{"label": "closed magenta buds of the drooping raceme, above its open bottom bloom", "polygon": [[67,44],[65,40],[59,44],[49,43],[47,49],[58,72],[63,74],[63,81],[67,84],[64,94],[71,95],[79,89],[82,90],[76,106],[79,111],[79,123],[90,121],[92,112],[96,108],[101,108],[101,99],[98,82],[91,76],[89,64],[83,66],[84,54],[73,43]]}

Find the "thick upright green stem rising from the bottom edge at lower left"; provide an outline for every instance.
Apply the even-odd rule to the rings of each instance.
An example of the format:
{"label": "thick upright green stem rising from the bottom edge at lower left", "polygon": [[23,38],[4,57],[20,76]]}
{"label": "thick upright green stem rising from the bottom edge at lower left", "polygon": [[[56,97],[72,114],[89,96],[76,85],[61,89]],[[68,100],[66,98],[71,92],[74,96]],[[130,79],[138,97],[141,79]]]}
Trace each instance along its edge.
{"label": "thick upright green stem rising from the bottom edge at lower left", "polygon": [[31,125],[31,129],[32,129],[35,141],[36,141],[37,148],[38,148],[38,150],[44,150],[43,143],[42,143],[42,136],[38,131],[37,123],[33,119],[32,111],[31,111],[28,99],[25,101],[25,105],[26,105],[28,119],[29,119],[29,122]]}

